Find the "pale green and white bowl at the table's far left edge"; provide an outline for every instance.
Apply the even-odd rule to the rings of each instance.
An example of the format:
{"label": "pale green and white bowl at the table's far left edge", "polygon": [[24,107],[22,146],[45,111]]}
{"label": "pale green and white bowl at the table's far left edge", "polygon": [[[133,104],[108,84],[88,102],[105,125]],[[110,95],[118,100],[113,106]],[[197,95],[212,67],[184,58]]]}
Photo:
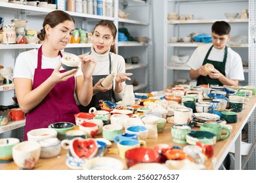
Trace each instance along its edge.
{"label": "pale green and white bowl at the table's far left edge", "polygon": [[9,163],[12,161],[12,147],[20,142],[16,138],[0,139],[0,163]]}

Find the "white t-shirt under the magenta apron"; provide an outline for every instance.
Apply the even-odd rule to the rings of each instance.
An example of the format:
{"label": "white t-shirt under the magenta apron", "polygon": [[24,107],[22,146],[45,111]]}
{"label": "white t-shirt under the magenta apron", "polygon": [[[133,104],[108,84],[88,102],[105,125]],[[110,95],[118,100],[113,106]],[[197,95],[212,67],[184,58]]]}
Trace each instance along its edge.
{"label": "white t-shirt under the magenta apron", "polygon": [[[62,52],[62,56],[72,55],[67,52]],[[41,69],[55,69],[60,63],[60,56],[56,58],[47,58],[42,56]],[[27,52],[22,52],[16,58],[16,63],[14,67],[13,78],[29,78],[33,82],[33,76],[35,75],[35,69],[37,68],[37,50],[29,50]],[[60,67],[60,71],[64,70]],[[79,67],[75,76],[83,75],[81,67]]]}

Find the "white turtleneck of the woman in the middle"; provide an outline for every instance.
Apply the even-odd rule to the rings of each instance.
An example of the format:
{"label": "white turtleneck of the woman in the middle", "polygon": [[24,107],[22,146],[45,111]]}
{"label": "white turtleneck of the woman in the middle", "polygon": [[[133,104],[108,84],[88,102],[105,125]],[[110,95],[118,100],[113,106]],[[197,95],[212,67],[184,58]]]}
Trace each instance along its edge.
{"label": "white turtleneck of the woman in the middle", "polygon": [[[88,55],[89,52],[85,55]],[[93,73],[94,76],[96,75],[109,75],[110,74],[110,59],[109,54],[111,58],[111,71],[116,73],[118,75],[119,73],[125,73],[125,59],[122,56],[119,56],[117,54],[114,54],[112,52],[106,52],[104,54],[97,54],[94,50],[94,48],[91,48],[91,56],[95,58],[96,61],[96,67],[95,71]],[[116,78],[114,78],[116,79]],[[125,86],[125,82],[123,82],[123,86]],[[113,84],[113,89],[116,88],[116,82]],[[124,87],[123,87],[124,88]],[[114,92],[114,97],[116,101],[121,101],[123,96],[123,90],[119,93]]]}

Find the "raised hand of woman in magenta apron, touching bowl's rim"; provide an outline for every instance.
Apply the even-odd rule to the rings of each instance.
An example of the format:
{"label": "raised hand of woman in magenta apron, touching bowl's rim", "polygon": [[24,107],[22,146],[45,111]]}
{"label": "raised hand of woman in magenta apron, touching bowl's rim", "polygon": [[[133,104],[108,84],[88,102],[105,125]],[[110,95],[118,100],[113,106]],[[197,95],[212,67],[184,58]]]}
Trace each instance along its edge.
{"label": "raised hand of woman in magenta apron, touching bowl's rim", "polygon": [[93,76],[93,71],[95,71],[96,61],[93,56],[79,56],[81,59],[81,71],[85,78],[90,78]]}

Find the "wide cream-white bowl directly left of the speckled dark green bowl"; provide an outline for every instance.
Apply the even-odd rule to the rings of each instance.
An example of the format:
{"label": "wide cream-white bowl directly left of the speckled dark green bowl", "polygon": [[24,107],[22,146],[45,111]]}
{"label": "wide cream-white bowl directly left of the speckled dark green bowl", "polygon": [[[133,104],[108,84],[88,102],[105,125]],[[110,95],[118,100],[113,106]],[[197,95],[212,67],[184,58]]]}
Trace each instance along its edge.
{"label": "wide cream-white bowl directly left of the speckled dark green bowl", "polygon": [[57,131],[51,128],[39,128],[28,131],[28,141],[41,141],[43,139],[49,139],[57,137]]}

